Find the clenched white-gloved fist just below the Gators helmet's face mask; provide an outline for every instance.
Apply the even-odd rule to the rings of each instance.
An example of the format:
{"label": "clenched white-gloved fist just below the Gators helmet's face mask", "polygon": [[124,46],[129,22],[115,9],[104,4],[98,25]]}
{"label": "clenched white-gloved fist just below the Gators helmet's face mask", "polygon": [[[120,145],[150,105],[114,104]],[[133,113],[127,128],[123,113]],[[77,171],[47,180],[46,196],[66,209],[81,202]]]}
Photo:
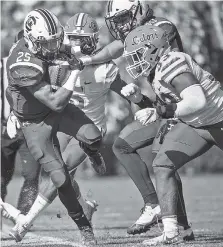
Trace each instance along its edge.
{"label": "clenched white-gloved fist just below the Gators helmet's face mask", "polygon": [[141,89],[134,83],[129,83],[121,90],[121,94],[133,103],[139,103],[143,97]]}

